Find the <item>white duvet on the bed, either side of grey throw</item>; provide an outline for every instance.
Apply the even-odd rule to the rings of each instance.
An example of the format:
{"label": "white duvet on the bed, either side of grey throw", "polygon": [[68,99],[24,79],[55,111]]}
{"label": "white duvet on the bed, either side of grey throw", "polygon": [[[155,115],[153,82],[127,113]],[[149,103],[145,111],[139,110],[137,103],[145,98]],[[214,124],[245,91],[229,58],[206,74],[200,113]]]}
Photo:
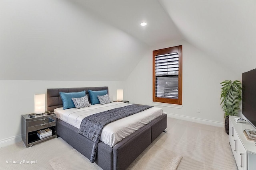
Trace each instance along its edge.
{"label": "white duvet on the bed, either side of grey throw", "polygon": [[[71,108],[63,110],[63,107],[60,107],[54,109],[54,113],[57,114],[58,119],[79,129],[81,121],[84,119],[84,117],[127,105],[130,104],[113,102],[105,105],[95,104],[81,109]],[[156,119],[160,115],[162,115],[161,108],[151,107],[134,115],[130,115],[109,123],[102,129],[100,141],[106,143],[110,147],[113,147],[116,143],[132,134],[134,131],[140,129],[144,125],[150,123],[150,121]]]}

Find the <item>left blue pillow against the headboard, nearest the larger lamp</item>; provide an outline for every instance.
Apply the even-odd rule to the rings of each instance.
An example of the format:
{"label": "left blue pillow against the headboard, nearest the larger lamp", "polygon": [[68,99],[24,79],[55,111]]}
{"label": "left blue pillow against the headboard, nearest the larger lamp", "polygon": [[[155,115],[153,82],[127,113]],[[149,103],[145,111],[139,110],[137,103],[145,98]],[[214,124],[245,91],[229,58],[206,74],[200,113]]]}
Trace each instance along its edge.
{"label": "left blue pillow against the headboard, nearest the larger lamp", "polygon": [[72,98],[82,98],[85,96],[85,91],[65,93],[60,92],[60,98],[62,100],[63,109],[75,108],[75,104]]}

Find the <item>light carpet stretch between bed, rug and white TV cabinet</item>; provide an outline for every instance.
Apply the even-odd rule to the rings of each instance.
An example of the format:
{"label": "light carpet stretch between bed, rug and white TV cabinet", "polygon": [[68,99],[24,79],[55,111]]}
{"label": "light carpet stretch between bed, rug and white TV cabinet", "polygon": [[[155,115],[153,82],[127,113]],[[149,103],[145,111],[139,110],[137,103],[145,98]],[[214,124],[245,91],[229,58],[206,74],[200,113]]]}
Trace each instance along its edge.
{"label": "light carpet stretch between bed, rug and white TV cabinet", "polygon": [[168,118],[166,149],[182,154],[177,170],[237,170],[222,127]]}

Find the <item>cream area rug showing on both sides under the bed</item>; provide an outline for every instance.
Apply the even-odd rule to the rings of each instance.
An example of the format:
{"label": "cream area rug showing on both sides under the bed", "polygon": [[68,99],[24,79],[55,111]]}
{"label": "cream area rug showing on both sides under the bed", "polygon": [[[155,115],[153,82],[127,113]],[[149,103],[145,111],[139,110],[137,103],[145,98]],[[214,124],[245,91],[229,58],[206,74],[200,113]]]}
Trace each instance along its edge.
{"label": "cream area rug showing on both sides under the bed", "polygon": [[[168,169],[176,170],[182,156],[171,150],[152,143],[142,152],[134,162],[127,168],[128,170],[156,170]],[[91,163],[88,158],[80,154],[75,149],[69,150],[62,156],[49,160],[54,170],[101,170],[101,168]]]}

